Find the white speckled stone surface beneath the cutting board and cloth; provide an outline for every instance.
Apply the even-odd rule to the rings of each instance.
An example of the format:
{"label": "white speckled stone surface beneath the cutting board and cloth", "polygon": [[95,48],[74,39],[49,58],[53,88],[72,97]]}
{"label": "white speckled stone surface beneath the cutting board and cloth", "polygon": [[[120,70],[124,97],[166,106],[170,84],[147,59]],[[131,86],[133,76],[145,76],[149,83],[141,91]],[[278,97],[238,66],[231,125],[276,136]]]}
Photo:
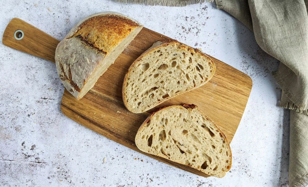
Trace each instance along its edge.
{"label": "white speckled stone surface beneath the cutting board and cloth", "polygon": [[[0,45],[0,186],[287,186],[289,111],[277,107],[278,60],[215,4],[126,5],[110,0],[2,0],[0,36],[18,17],[61,40],[77,21],[117,11],[247,73],[252,92],[224,178],[200,177],[115,143],[65,117],[55,64]],[[104,162],[104,158],[105,162]]]}

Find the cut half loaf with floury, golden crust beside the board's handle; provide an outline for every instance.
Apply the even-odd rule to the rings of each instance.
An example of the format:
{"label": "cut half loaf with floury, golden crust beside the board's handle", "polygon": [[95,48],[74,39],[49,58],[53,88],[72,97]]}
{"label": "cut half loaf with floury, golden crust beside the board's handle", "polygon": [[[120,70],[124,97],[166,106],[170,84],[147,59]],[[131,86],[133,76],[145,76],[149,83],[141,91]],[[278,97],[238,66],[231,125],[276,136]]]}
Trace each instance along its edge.
{"label": "cut half loaf with floury, golden crust beside the board's handle", "polygon": [[116,12],[100,12],[79,21],[58,44],[55,61],[65,88],[80,99],[142,29]]}

